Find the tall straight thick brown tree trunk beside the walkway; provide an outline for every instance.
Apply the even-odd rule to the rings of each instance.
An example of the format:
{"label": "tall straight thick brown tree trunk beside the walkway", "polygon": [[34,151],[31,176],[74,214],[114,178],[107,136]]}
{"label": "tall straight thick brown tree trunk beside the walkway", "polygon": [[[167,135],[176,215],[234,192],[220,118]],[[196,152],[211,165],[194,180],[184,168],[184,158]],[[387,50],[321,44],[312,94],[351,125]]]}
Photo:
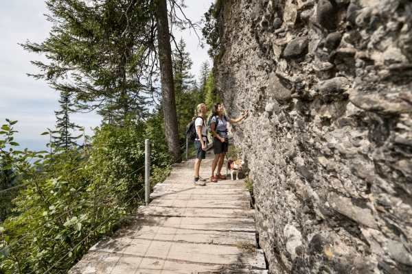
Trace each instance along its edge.
{"label": "tall straight thick brown tree trunk beside the walkway", "polygon": [[166,0],[157,0],[157,41],[159,43],[160,82],[163,97],[163,119],[168,148],[176,162],[181,162],[179,129],[177,127],[176,99],[174,97],[172,48]]}

